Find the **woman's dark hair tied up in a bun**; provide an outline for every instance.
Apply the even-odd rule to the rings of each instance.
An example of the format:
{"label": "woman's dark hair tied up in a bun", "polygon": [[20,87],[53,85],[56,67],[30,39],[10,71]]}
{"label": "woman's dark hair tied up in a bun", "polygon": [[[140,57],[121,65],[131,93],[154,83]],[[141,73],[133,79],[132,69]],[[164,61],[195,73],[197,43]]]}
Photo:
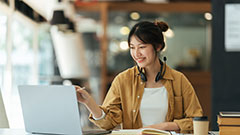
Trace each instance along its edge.
{"label": "woman's dark hair tied up in a bun", "polygon": [[136,36],[144,44],[151,44],[155,51],[161,46],[160,50],[165,47],[163,33],[168,30],[168,25],[165,22],[142,21],[133,26],[128,35],[128,45],[132,36]]}

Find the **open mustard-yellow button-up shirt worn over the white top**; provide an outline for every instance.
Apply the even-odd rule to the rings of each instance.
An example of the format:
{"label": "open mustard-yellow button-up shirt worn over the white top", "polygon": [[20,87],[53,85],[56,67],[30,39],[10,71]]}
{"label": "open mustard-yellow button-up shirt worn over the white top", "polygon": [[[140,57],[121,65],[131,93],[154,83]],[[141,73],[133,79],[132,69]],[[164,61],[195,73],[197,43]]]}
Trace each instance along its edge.
{"label": "open mustard-yellow button-up shirt worn over the white top", "polygon": [[[103,129],[113,129],[119,124],[122,124],[123,129],[141,128],[139,109],[145,83],[138,74],[137,67],[134,66],[117,75],[100,106],[106,116],[94,120],[90,114],[90,121]],[[161,82],[168,92],[166,121],[176,122],[180,130],[192,130],[192,118],[203,115],[192,85],[182,73],[168,66]]]}

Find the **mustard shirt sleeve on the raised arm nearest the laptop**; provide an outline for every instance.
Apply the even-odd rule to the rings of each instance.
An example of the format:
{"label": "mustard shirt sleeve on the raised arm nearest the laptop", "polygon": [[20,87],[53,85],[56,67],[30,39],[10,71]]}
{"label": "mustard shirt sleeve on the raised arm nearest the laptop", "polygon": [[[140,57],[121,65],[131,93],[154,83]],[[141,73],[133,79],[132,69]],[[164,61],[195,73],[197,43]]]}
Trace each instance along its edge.
{"label": "mustard shirt sleeve on the raised arm nearest the laptop", "polygon": [[122,109],[119,88],[119,79],[116,77],[112,82],[102,106],[100,106],[100,108],[105,112],[106,116],[100,120],[94,120],[92,114],[89,116],[90,121],[96,126],[109,130],[122,123]]}

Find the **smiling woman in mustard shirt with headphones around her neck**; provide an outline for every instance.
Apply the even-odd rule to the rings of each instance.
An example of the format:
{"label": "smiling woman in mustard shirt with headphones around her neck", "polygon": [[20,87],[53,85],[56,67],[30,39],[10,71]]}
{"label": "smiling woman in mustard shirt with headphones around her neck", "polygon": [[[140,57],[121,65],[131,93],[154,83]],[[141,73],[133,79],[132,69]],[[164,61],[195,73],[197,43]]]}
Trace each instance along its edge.
{"label": "smiling woman in mustard shirt with headphones around her neck", "polygon": [[102,106],[76,86],[78,101],[94,124],[104,129],[122,124],[124,129],[192,130],[192,118],[203,115],[194,89],[182,73],[158,58],[167,29],[164,22],[134,25],[128,44],[137,65],[115,77]]}

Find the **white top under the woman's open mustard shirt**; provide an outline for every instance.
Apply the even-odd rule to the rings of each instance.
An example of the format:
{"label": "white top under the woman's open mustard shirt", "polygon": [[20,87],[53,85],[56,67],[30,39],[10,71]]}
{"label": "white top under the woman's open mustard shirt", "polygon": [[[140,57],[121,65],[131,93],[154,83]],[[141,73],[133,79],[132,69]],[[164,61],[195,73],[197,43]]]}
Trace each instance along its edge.
{"label": "white top under the woman's open mustard shirt", "polygon": [[165,122],[168,111],[168,93],[166,88],[144,88],[140,106],[144,126]]}

